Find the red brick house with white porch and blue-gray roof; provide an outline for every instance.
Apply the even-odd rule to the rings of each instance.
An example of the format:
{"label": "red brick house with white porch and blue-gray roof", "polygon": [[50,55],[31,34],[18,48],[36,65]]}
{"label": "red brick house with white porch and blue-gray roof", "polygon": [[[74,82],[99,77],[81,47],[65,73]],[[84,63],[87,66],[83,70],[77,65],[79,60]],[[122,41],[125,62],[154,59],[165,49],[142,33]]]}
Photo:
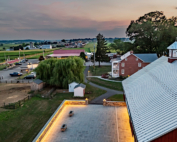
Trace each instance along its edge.
{"label": "red brick house with white porch and blue-gray roof", "polygon": [[156,59],[156,53],[134,54],[129,51],[120,60],[112,59],[112,77],[130,76]]}

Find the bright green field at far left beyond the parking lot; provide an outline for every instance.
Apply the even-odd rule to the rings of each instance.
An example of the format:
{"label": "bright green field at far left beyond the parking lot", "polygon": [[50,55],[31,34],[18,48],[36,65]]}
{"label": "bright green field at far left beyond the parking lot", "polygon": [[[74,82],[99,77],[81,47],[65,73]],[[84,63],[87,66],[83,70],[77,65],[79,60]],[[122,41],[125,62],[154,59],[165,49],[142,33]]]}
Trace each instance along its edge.
{"label": "bright green field at far left beyond the parking lot", "polygon": [[[56,49],[45,49],[45,52],[53,51]],[[21,50],[20,51],[20,57],[23,57],[24,54],[25,56],[28,55],[33,55],[33,54],[38,54],[38,53],[43,53],[43,50]],[[9,57],[11,60],[18,58],[19,57],[19,51],[0,51],[0,62],[3,62]]]}

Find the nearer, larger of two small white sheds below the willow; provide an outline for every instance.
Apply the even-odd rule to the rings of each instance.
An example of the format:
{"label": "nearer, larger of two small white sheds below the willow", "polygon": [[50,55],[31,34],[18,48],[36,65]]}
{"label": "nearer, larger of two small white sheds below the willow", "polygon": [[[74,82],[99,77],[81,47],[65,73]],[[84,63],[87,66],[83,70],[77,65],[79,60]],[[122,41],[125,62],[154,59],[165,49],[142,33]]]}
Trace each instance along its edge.
{"label": "nearer, larger of two small white sheds below the willow", "polygon": [[74,97],[84,97],[86,85],[78,84],[74,87]]}

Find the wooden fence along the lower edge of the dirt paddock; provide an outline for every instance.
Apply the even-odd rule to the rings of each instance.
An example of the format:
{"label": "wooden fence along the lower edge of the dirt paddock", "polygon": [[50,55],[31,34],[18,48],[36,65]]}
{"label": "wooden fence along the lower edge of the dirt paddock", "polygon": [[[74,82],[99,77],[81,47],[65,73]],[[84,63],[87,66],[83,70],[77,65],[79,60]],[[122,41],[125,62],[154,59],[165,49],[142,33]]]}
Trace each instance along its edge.
{"label": "wooden fence along the lower edge of the dirt paddock", "polygon": [[9,103],[9,104],[5,104],[2,106],[2,108],[5,109],[16,109],[21,107],[26,101],[28,101],[30,99],[30,96],[27,96],[26,98],[16,102],[16,103]]}

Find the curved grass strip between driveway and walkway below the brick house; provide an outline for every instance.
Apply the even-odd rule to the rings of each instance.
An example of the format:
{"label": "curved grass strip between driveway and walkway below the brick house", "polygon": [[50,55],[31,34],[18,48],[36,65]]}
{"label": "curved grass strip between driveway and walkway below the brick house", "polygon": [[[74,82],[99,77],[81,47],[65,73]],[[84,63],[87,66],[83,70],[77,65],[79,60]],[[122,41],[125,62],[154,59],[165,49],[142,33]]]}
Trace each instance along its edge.
{"label": "curved grass strip between driveway and walkway below the brick house", "polygon": [[106,80],[102,80],[96,77],[88,77],[87,78],[90,82],[93,82],[97,85],[106,87],[106,88],[110,88],[110,89],[114,89],[114,90],[118,90],[118,91],[123,91],[123,87],[122,87],[122,83],[121,82],[111,82],[111,81],[106,81]]}

